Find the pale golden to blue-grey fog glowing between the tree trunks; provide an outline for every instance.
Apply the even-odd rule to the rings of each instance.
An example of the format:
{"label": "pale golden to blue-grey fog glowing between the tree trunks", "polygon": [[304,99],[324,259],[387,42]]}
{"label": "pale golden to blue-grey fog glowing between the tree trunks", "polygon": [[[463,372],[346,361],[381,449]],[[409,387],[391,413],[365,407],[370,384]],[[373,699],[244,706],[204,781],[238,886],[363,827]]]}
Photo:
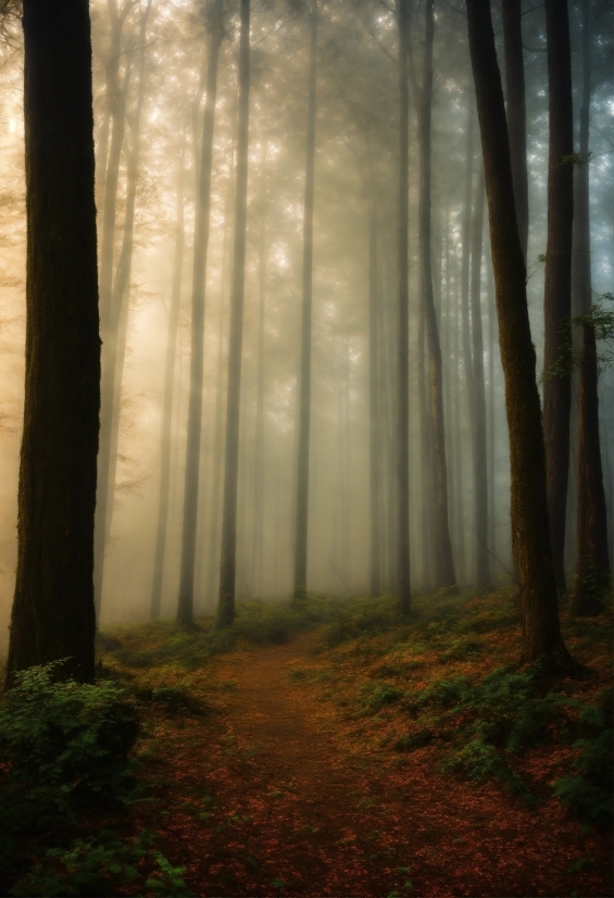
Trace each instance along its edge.
{"label": "pale golden to blue-grey fog glowing between the tree trunks", "polygon": [[[109,201],[110,139],[117,134],[118,59],[124,135],[113,233],[112,278],[131,252],[125,324],[103,339],[103,367],[114,364],[120,401],[102,421],[117,426],[108,509],[100,622],[150,615],[164,427],[164,383],[173,282],[180,287],[170,412],[168,506],[162,616],[177,611],[185,502],[190,385],[191,294],[197,178],[208,64],[203,0],[120,2],[126,11],[113,55],[115,3],[93,0],[95,140],[99,236]],[[129,8],[129,9],[128,9]],[[217,603],[224,436],[233,273],[237,144],[238,11],[224,7],[213,135],[211,233],[206,254],[202,434],[196,534],[195,614]],[[580,17],[572,9],[575,91],[580,89]],[[496,16],[498,40],[501,23]],[[548,79],[543,10],[525,14],[531,329],[543,352],[543,255],[547,239]],[[145,38],[145,40],[143,40]],[[614,103],[612,7],[594,11],[590,117],[590,216],[596,296],[612,290],[614,272]],[[412,590],[438,585],[429,488],[427,383],[419,299],[418,126],[424,11],[415,3],[410,48],[410,539]],[[292,595],[297,492],[303,216],[310,25],[303,4],[254,0],[251,18],[250,134],[246,297],[239,415],[238,598]],[[0,48],[0,650],[8,643],[16,560],[17,473],[25,334],[25,184],[23,54],[18,29]],[[461,305],[469,247],[463,240],[467,129],[472,207],[481,197],[481,154],[468,60],[466,18],[453,5],[435,14],[431,262],[443,360],[443,416],[449,527],[456,579],[476,582],[473,437]],[[501,54],[500,63],[503,65]],[[140,102],[139,102],[140,96]],[[579,102],[578,102],[579,108]],[[372,565],[369,488],[369,221],[375,228],[376,436],[380,589],[396,588],[396,352],[398,267],[397,25],[386,4],[329,0],[318,14],[308,577],[310,591],[367,595]],[[575,115],[577,120],[577,115]],[[469,126],[469,122],[473,122]],[[111,135],[111,138],[110,138]],[[138,158],[137,158],[138,153]],[[101,161],[102,158],[102,161]],[[134,224],[130,165],[137,173]],[[484,200],[483,200],[484,202]],[[374,207],[373,219],[369,210]],[[177,226],[177,215],[183,225]],[[469,210],[475,221],[475,209]],[[126,222],[128,222],[126,224]],[[472,225],[473,226],[473,225]],[[126,233],[126,227],[129,234]],[[134,238],[127,248],[126,237]],[[373,237],[373,232],[372,232]],[[177,241],[183,240],[177,252]],[[480,272],[487,404],[492,582],[513,576],[510,547],[509,448],[503,375],[497,344],[493,282],[485,216]],[[465,266],[463,266],[465,253]],[[540,261],[541,260],[541,261]],[[101,260],[101,266],[103,262]],[[372,282],[373,284],[373,282]],[[103,297],[101,297],[102,301]],[[125,328],[125,336],[123,333]],[[110,346],[117,353],[110,361]],[[125,356],[124,356],[125,351]],[[123,357],[123,358],[122,358]],[[600,376],[601,440],[609,519],[614,511],[614,378]],[[577,387],[575,387],[577,389]],[[424,404],[424,403],[423,403]],[[575,417],[572,413],[566,562],[575,552]],[[113,461],[113,460],[112,460]],[[611,557],[614,542],[610,533]]]}

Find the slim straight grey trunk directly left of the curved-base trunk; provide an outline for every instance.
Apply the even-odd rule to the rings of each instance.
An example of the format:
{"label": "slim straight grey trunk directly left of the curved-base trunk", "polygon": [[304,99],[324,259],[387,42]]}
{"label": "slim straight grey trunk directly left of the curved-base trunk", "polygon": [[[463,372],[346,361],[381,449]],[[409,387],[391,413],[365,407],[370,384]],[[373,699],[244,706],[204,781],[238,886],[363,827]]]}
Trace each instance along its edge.
{"label": "slim straight grey trunk directly left of the curved-base trunk", "polygon": [[411,607],[410,591],[410,303],[409,303],[409,9],[397,2],[399,27],[399,324],[397,348],[397,601],[401,614]]}

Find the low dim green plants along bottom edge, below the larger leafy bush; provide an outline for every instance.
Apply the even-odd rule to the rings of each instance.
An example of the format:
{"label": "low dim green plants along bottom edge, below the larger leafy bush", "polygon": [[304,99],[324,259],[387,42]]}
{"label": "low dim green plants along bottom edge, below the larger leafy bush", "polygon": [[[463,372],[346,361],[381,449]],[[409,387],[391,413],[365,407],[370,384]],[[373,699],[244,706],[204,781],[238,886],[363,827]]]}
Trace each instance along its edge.
{"label": "low dim green plants along bottom edge, below the larger leafy bush", "polygon": [[[49,848],[43,859],[18,880],[10,894],[21,896],[108,896],[125,886],[138,886],[160,896],[189,896],[183,866],[172,866],[151,847],[153,836],[142,832],[121,839],[110,831],[95,839],[75,839],[66,848]],[[143,866],[150,868],[149,875]],[[152,869],[153,868],[153,869]]]}

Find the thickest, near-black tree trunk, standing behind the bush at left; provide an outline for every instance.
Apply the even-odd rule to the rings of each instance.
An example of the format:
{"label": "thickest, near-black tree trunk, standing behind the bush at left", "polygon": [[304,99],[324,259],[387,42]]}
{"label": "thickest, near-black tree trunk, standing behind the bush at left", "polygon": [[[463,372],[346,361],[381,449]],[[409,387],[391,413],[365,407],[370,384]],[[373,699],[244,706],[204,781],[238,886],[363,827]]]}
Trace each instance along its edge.
{"label": "thickest, near-black tree trunk, standing behind the bush at left", "polygon": [[91,41],[86,0],[24,0],[26,374],[7,683],[68,659],[93,681],[100,407]]}

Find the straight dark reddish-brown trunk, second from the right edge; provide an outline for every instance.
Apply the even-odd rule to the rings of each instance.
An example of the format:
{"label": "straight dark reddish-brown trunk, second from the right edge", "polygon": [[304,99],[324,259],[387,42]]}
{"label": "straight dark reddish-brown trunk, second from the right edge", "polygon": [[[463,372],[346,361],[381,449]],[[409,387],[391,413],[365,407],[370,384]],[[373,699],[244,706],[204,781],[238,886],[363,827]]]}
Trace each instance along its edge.
{"label": "straight dark reddish-brown trunk, second from the right edge", "polygon": [[[546,0],[550,148],[548,158],[548,246],[543,296],[543,439],[548,476],[550,539],[556,585],[565,584],[565,510],[569,473],[572,377],[566,363],[571,347],[572,222],[574,152],[572,54],[567,0]],[[561,370],[552,374],[552,367]]]}

